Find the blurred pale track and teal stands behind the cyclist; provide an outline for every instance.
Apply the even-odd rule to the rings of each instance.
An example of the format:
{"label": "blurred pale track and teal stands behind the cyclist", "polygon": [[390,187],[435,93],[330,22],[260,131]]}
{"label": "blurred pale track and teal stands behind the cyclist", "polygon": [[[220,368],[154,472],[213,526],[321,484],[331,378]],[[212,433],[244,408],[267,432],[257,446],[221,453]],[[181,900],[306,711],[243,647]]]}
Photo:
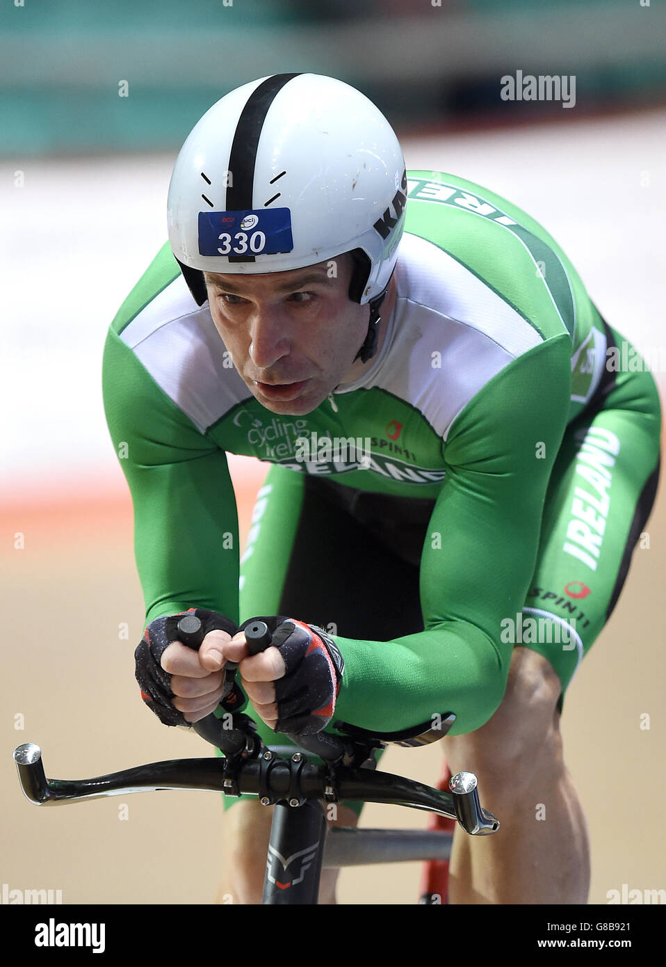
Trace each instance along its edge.
{"label": "blurred pale track and teal stands behind the cyclist", "polygon": [[[130,495],[101,404],[106,330],[165,241],[171,167],[198,118],[270,73],[327,73],[359,87],[388,116],[408,167],[477,182],[554,235],[607,320],[662,360],[663,392],[665,36],[658,0],[2,6],[0,558],[10,622],[0,651],[0,885],[60,889],[69,903],[215,895],[216,794],[36,809],[11,760],[16,745],[37,742],[47,775],[84,777],[209,754],[136,697],[143,601]],[[575,98],[503,100],[502,78],[517,72],[572,78]],[[243,543],[267,465],[235,456],[230,465]],[[649,545],[635,551],[616,612],[567,692],[565,757],[590,826],[594,903],[623,884],[666,888],[652,827],[666,793],[661,490]],[[384,763],[434,783],[440,758],[437,747],[391,749]],[[628,773],[641,777],[634,800],[623,791]],[[392,806],[368,806],[362,818],[425,821]],[[419,880],[420,864],[348,869],[339,900],[412,903]]]}

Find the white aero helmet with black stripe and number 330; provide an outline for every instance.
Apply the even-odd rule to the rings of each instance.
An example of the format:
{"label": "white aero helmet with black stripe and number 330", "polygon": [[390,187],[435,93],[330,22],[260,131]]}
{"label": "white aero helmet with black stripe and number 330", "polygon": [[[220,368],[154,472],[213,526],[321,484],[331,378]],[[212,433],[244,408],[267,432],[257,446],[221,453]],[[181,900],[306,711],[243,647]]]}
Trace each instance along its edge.
{"label": "white aero helmet with black stripe and number 330", "polygon": [[351,251],[349,297],[378,310],[406,189],[400,144],[371,101],[333,77],[277,73],[225,95],[190,132],[169,242],[198,305],[204,271],[285,272]]}

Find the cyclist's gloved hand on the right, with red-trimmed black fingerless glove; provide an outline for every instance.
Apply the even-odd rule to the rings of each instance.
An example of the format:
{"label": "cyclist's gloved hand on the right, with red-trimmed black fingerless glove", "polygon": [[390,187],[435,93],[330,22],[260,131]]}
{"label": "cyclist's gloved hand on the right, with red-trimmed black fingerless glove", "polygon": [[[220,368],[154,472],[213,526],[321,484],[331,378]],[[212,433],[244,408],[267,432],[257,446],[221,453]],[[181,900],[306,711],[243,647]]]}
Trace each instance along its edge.
{"label": "cyclist's gloved hand on the right, with red-trimmed black fingerless glove", "polygon": [[[268,625],[273,645],[250,656],[243,630],[255,621]],[[223,646],[223,654],[240,662],[247,697],[276,732],[311,735],[333,718],[344,660],[323,629],[282,616],[250,618]]]}

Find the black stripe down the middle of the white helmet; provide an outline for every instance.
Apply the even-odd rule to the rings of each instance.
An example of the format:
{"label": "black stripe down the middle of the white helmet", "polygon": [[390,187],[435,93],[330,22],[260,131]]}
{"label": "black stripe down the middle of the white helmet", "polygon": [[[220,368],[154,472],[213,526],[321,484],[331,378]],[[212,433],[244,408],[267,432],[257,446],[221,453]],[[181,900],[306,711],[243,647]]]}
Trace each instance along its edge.
{"label": "black stripe down the middle of the white helmet", "polygon": [[[250,94],[236,125],[229,153],[231,184],[226,190],[226,210],[240,212],[252,208],[254,164],[259,136],[275,95],[298,73],[275,73],[267,77]],[[254,255],[229,255],[230,262],[253,262]]]}

